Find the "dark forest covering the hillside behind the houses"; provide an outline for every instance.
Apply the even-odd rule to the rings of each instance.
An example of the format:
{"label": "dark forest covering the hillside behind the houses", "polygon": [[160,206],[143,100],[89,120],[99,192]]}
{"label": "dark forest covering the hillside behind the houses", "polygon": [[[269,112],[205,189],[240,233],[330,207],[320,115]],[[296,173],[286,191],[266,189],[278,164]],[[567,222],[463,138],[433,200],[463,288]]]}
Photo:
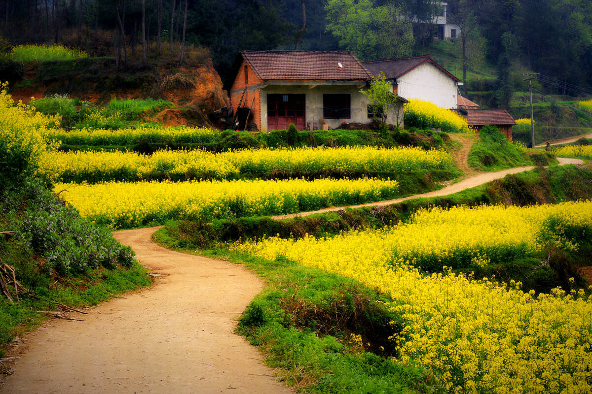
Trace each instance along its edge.
{"label": "dark forest covering the hillside behind the houses", "polygon": [[[126,63],[173,42],[207,48],[225,83],[241,50],[352,50],[364,61],[426,53],[442,12],[434,0],[0,0],[11,44],[60,43]],[[417,22],[420,23],[417,23]],[[487,60],[511,95],[510,69],[545,76],[552,93],[592,89],[592,2],[449,0],[463,70]],[[147,43],[142,45],[143,43]],[[150,44],[152,43],[152,45]],[[145,48],[137,49],[142,47]],[[170,52],[169,52],[170,54]],[[128,59],[128,57],[130,59]],[[145,60],[144,60],[145,61]],[[463,78],[464,79],[464,78]],[[561,81],[559,83],[558,81]]]}

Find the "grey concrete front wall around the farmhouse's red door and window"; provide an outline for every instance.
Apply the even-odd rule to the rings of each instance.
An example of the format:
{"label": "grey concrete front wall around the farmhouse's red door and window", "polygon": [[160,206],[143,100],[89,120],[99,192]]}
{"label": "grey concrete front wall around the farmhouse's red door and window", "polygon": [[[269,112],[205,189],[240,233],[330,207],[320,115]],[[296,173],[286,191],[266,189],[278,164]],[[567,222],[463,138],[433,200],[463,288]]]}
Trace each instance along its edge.
{"label": "grey concrete front wall around the farmhouse's red door and window", "polygon": [[[321,128],[321,119],[323,119],[323,94],[326,93],[349,93],[351,95],[351,117],[350,119],[324,119],[329,128],[336,129],[341,123],[369,123],[372,119],[368,119],[368,104],[370,100],[368,97],[362,95],[360,90],[355,85],[317,85],[310,87],[310,85],[272,85],[266,86],[261,90],[261,111],[260,111],[260,127],[262,131],[267,131],[267,95],[268,94],[282,94],[282,95],[306,95],[305,108],[305,123],[310,122],[311,128],[313,123],[317,123],[317,127]],[[392,109],[387,113],[387,122],[397,124],[397,115],[399,127],[403,129],[403,105],[400,104],[396,109]]]}

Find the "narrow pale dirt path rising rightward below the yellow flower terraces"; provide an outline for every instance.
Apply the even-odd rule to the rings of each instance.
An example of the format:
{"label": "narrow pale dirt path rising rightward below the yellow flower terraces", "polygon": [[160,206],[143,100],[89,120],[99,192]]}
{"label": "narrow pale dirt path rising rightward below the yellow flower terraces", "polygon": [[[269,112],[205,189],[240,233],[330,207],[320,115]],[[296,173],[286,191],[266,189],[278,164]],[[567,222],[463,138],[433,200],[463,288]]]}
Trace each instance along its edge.
{"label": "narrow pale dirt path rising rightward below the yellow flower terraces", "polygon": [[[583,160],[580,159],[568,159],[563,157],[557,158],[559,161],[559,165],[565,164],[584,164]],[[484,183],[488,183],[494,181],[496,179],[500,179],[505,177],[508,174],[517,174],[519,172],[529,171],[532,170],[532,165],[527,167],[516,167],[510,168],[509,170],[497,171],[497,172],[483,172],[478,175],[474,175],[470,178],[466,178],[458,183],[446,186],[445,188],[441,188],[440,190],[430,191],[429,193],[423,194],[415,194],[414,196],[408,196],[403,198],[395,198],[394,200],[388,201],[377,201],[376,203],[366,203],[366,204],[359,204],[359,205],[352,205],[347,207],[330,207],[319,209],[317,211],[310,211],[310,212],[300,212],[300,213],[293,213],[289,215],[279,215],[279,216],[272,216],[272,219],[290,219],[291,217],[303,217],[309,216],[315,213],[323,213],[323,212],[331,212],[331,211],[339,211],[346,208],[362,208],[362,207],[382,207],[390,204],[400,203],[401,201],[411,200],[413,198],[420,198],[420,197],[441,197],[441,196],[448,196],[449,194],[458,193],[459,191],[477,187],[478,185],[482,185]]]}

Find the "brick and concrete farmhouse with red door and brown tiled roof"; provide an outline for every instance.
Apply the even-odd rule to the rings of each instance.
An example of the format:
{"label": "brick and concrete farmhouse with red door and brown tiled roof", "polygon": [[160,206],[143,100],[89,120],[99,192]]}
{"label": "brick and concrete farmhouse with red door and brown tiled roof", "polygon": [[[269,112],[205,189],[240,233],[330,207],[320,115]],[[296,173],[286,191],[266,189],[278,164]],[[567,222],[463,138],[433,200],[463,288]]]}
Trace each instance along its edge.
{"label": "brick and concrete farmhouse with red door and brown tiled roof", "polygon": [[[350,51],[243,51],[230,91],[234,111],[248,108],[249,122],[262,131],[337,128],[368,123],[376,116],[360,89],[371,74]],[[399,97],[387,122],[403,128]]]}

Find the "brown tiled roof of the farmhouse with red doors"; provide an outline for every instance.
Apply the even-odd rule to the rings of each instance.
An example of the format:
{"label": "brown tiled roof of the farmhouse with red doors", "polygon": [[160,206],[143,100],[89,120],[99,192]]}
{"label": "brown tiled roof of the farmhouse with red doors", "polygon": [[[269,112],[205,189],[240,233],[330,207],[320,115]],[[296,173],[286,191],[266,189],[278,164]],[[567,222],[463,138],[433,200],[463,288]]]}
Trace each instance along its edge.
{"label": "brown tiled roof of the farmhouse with red doors", "polygon": [[371,79],[351,51],[243,51],[241,54],[262,80]]}

